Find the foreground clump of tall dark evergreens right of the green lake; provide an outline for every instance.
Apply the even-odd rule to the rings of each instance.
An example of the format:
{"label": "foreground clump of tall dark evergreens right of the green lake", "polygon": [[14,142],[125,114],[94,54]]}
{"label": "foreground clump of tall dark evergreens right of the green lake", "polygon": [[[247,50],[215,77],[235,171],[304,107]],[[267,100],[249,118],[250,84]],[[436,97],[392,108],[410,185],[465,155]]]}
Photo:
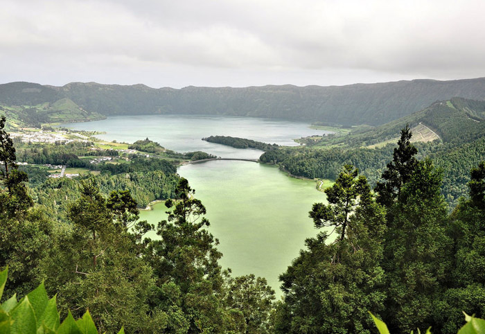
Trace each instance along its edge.
{"label": "foreground clump of tall dark evergreens right of the green lake", "polygon": [[347,165],[325,191],[328,204],[313,205],[315,227],[335,234],[308,238],[281,274],[276,333],[372,333],[371,310],[390,333],[431,326],[451,334],[459,310],[484,314],[485,163],[448,215],[441,174],[430,159],[416,159],[410,137],[401,132],[376,196]]}

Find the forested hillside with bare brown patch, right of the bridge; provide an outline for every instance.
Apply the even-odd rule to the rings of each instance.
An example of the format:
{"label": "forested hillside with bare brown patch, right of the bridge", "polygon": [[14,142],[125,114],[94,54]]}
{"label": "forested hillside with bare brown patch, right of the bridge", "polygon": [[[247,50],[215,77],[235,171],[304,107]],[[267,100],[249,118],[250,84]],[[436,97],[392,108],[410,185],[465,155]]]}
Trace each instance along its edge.
{"label": "forested hillside with bare brown patch, right of the bridge", "polygon": [[358,128],[318,141],[303,140],[306,146],[300,148],[270,150],[260,160],[311,179],[335,179],[344,164],[352,164],[375,185],[391,159],[400,130],[407,125],[411,128],[421,125],[438,134],[439,139],[416,141],[419,155],[430,157],[441,168],[442,193],[451,206],[456,206],[459,197],[466,194],[468,171],[485,159],[484,109],[484,101],[451,98],[377,128]]}

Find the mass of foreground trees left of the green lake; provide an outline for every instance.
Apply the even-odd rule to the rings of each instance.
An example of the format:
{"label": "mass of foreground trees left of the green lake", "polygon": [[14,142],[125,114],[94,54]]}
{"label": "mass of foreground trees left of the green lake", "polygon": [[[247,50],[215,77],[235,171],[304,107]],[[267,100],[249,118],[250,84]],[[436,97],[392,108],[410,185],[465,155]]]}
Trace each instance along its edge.
{"label": "mass of foreground trees left of the green lake", "polygon": [[[130,191],[120,187],[103,195],[96,178],[59,179],[62,184],[42,195],[26,186],[4,123],[1,118],[0,267],[8,266],[2,309],[15,317],[16,308],[8,305],[46,279],[42,287],[56,295],[60,317],[79,318],[89,309],[100,331],[270,333],[274,291],[265,279],[234,277],[220,267],[218,240],[205,228],[206,209],[185,179],[177,177],[168,194],[174,200],[166,201],[171,213],[156,227],[139,221]],[[171,182],[160,176],[157,182]],[[39,198],[55,204],[56,193],[69,186],[64,217],[56,218]],[[144,238],[148,231],[159,238]],[[19,307],[28,307],[24,301]],[[2,312],[1,326],[18,325],[3,324]]]}

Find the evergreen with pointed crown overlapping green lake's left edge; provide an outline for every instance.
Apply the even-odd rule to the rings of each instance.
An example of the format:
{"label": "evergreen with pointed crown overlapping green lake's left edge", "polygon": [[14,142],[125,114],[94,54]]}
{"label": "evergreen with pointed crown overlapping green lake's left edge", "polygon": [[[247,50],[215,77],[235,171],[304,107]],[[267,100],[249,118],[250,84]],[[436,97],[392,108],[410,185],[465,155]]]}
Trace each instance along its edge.
{"label": "evergreen with pointed crown overlapping green lake's left edge", "polygon": [[[206,208],[182,178],[177,200],[167,200],[168,219],[159,222],[146,258],[155,270],[153,312],[168,316],[166,333],[230,333],[245,328],[238,313],[224,305],[224,276],[215,247],[218,240],[204,227]],[[162,329],[162,328],[160,328]]]}

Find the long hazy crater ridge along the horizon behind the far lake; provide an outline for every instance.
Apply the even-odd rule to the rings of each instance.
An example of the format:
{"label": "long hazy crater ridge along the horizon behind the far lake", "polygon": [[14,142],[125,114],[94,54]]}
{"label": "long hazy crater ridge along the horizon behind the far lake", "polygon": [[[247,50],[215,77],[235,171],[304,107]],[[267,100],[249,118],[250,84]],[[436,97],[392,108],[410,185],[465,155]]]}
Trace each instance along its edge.
{"label": "long hazy crater ridge along the horizon behind the far lake", "polygon": [[63,87],[27,82],[0,85],[0,105],[38,105],[69,98],[87,112],[119,114],[220,114],[286,118],[340,125],[381,125],[454,96],[483,100],[485,78],[412,80],[331,87],[185,87],[73,82]]}

